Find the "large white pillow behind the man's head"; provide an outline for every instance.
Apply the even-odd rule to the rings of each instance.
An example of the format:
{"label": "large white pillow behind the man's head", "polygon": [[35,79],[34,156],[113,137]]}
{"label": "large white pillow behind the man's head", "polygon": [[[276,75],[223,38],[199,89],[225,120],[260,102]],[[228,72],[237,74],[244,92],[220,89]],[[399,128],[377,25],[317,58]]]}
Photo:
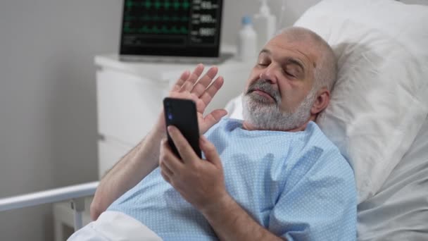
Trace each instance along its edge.
{"label": "large white pillow behind the man's head", "polygon": [[[372,197],[428,114],[428,7],[391,0],[325,0],[297,20],[338,58],[329,106],[317,119],[353,166],[358,201]],[[242,118],[241,96],[229,115]]]}

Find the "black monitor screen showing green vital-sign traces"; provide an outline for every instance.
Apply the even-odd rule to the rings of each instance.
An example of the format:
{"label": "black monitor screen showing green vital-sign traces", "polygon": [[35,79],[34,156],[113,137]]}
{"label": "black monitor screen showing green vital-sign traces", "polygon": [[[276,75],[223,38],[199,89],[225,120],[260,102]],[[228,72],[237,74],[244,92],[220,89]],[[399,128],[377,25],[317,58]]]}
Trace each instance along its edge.
{"label": "black monitor screen showing green vital-sign traces", "polygon": [[124,0],[121,55],[218,57],[222,0]]}

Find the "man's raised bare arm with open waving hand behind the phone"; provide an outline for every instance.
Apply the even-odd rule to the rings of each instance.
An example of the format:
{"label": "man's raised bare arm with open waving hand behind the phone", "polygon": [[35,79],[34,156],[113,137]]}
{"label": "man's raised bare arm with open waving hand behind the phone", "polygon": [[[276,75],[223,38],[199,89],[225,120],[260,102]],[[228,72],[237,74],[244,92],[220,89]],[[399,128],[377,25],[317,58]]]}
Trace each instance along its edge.
{"label": "man's raised bare arm with open waving hand behind the phone", "polygon": [[[196,102],[200,133],[206,132],[211,126],[218,123],[222,116],[227,114],[225,110],[218,109],[203,116],[206,106],[223,84],[222,77],[213,81],[218,73],[217,67],[210,68],[199,79],[203,73],[203,68],[203,65],[199,64],[193,73],[185,71],[168,95],[168,97],[191,99]],[[164,137],[166,137],[166,130],[162,112],[149,135],[101,179],[91,204],[91,218],[93,220],[96,220],[103,211],[106,211],[115,199],[137,185],[158,166],[160,140]]]}

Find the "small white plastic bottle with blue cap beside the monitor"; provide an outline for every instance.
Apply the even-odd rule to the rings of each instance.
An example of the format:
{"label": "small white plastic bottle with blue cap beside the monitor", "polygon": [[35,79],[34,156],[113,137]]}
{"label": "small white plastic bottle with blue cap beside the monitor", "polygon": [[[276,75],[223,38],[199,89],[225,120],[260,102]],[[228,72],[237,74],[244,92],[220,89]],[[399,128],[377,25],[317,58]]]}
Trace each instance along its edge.
{"label": "small white plastic bottle with blue cap beside the monitor", "polygon": [[254,61],[254,58],[258,55],[257,35],[249,16],[242,18],[242,28],[239,31],[237,48],[238,58],[241,61]]}

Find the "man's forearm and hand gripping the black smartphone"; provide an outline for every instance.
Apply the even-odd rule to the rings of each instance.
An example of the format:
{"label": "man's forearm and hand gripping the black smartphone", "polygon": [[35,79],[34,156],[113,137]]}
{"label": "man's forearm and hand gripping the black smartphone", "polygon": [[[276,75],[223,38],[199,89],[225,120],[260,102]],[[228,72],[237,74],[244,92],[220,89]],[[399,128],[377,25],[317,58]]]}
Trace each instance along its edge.
{"label": "man's forearm and hand gripping the black smartphone", "polygon": [[180,130],[168,132],[182,160],[166,140],[160,147],[160,173],[182,197],[201,211],[221,240],[282,240],[249,216],[226,191],[222,163],[215,147],[201,136],[199,146],[206,160],[199,159]]}

